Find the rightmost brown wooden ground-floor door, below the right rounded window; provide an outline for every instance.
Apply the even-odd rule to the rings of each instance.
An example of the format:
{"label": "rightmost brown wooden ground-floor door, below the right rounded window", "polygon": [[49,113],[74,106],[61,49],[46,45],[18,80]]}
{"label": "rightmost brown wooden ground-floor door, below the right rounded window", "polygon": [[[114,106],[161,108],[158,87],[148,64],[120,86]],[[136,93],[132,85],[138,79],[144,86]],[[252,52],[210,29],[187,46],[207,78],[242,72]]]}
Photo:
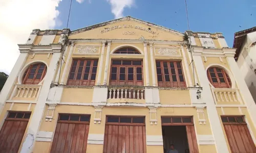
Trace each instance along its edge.
{"label": "rightmost brown wooden ground-floor door, below the right rounded window", "polygon": [[221,119],[231,152],[256,152],[256,147],[243,116],[222,116]]}

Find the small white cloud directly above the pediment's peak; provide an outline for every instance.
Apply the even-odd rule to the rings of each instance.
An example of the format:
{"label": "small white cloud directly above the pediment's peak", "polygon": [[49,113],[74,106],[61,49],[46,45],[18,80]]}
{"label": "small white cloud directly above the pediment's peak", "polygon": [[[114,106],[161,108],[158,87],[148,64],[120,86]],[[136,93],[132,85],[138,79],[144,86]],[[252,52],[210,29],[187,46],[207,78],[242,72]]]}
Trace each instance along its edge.
{"label": "small white cloud directly above the pediment's peak", "polygon": [[115,18],[123,17],[123,10],[125,7],[131,8],[135,0],[106,0],[111,4],[111,12]]}

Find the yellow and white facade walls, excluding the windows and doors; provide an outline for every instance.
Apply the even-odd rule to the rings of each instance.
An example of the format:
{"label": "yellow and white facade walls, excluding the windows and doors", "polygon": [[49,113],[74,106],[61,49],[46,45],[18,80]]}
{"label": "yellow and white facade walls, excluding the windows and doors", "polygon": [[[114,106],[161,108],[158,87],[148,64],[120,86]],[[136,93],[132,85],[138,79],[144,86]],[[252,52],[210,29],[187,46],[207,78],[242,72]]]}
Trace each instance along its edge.
{"label": "yellow and white facade walls, excluding the windows and doors", "polygon": [[[138,53],[115,54],[120,48]],[[228,48],[220,33],[180,33],[127,16],[75,31],[33,30],[19,50],[0,94],[0,128],[8,113],[31,112],[18,152],[51,152],[60,114],[90,116],[86,152],[103,152],[107,116],[144,117],[143,152],[149,153],[165,147],[161,117],[192,117],[198,152],[231,152],[221,116],[243,116],[255,147],[256,105],[233,58],[236,49]],[[93,82],[68,83],[75,60],[98,61]],[[142,61],[142,84],[113,85],[113,60]],[[184,85],[159,86],[163,76],[156,61],[179,61]],[[45,76],[37,84],[25,84],[27,69],[36,63],[46,65]],[[211,67],[225,71],[229,88],[211,84]]]}

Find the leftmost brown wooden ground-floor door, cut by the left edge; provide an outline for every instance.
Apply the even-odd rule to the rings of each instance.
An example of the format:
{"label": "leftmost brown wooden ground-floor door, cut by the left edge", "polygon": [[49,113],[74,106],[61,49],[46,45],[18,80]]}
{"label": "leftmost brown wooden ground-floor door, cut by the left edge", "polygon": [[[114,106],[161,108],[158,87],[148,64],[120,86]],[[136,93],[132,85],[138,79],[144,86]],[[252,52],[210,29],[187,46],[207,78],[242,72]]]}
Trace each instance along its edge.
{"label": "leftmost brown wooden ground-floor door, cut by the left edge", "polygon": [[18,152],[31,113],[9,112],[0,131],[0,153]]}

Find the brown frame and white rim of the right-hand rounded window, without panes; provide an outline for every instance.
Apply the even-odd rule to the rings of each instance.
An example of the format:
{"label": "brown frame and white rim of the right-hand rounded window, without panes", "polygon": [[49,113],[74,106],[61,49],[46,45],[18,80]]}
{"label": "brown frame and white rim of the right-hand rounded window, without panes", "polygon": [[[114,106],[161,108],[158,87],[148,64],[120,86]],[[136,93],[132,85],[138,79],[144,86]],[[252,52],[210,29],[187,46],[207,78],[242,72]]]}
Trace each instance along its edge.
{"label": "brown frame and white rim of the right-hand rounded window, without panes", "polygon": [[[210,71],[210,69],[213,68],[214,71]],[[217,69],[219,69],[220,71],[217,71]],[[215,77],[211,77],[210,73],[214,72]],[[215,87],[215,88],[232,88],[232,78],[230,78],[230,75],[227,73],[226,69],[224,69],[223,67],[220,66],[209,66],[206,69],[206,73],[207,73],[207,78],[208,81],[210,82],[211,86]],[[221,73],[223,75],[223,77],[220,77],[219,74]],[[214,82],[212,80],[212,78],[216,78],[217,82]],[[225,83],[222,83],[220,81],[220,79],[223,78]]]}

